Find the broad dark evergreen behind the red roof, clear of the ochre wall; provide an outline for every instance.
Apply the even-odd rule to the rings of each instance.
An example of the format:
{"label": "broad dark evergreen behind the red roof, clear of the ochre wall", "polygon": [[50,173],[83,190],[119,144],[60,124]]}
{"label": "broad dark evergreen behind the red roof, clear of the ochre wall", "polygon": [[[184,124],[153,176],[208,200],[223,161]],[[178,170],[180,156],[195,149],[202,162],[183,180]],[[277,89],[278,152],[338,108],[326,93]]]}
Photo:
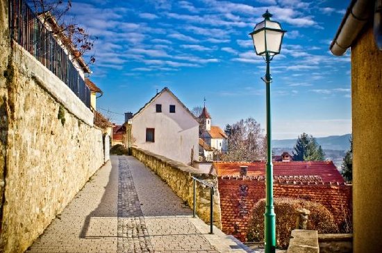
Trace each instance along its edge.
{"label": "broad dark evergreen behind the red roof, clear of the ochre wall", "polygon": [[312,135],[301,134],[294,145],[294,161],[324,161],[325,152]]}

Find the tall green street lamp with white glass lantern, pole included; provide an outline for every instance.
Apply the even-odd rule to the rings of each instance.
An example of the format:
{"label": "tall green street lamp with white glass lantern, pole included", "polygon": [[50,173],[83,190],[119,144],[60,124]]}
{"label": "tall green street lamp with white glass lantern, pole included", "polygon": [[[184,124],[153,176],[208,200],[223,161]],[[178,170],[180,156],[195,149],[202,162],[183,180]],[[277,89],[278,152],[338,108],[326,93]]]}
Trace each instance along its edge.
{"label": "tall green street lamp with white glass lantern, pole included", "polygon": [[263,14],[264,20],[256,24],[254,31],[249,33],[254,41],[257,55],[262,55],[267,62],[265,73],[266,86],[266,107],[267,107],[267,168],[266,168],[266,206],[264,213],[265,220],[265,253],[276,251],[276,215],[273,206],[273,164],[272,164],[272,125],[271,125],[271,82],[272,76],[269,73],[269,63],[274,55],[280,53],[281,42],[284,33],[279,22],[271,21],[272,14],[268,10]]}

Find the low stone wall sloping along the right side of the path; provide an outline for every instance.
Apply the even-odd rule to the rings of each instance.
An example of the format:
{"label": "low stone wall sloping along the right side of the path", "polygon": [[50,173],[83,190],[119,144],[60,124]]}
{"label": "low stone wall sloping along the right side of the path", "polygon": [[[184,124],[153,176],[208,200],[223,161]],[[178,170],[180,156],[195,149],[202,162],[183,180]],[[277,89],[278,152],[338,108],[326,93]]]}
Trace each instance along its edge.
{"label": "low stone wall sloping along the right side of the path", "polygon": [[[181,162],[176,162],[167,157],[153,154],[147,150],[140,148],[131,148],[132,155],[139,159],[144,165],[151,168],[169,187],[193,208],[193,180],[192,176],[204,180],[215,187],[215,195],[213,202],[214,225],[222,228],[220,197],[217,189],[217,177],[208,173],[198,171]],[[210,223],[210,189],[201,184],[197,186],[197,216]]]}

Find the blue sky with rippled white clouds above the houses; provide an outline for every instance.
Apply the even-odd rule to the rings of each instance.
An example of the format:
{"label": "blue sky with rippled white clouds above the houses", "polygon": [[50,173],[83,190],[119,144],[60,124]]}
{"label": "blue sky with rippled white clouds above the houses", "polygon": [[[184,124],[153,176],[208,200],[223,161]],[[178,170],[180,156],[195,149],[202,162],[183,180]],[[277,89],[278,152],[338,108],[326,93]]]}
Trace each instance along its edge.
{"label": "blue sky with rippled white clouds above the houses", "polygon": [[274,139],[351,132],[350,54],[329,53],[349,1],[73,1],[71,15],[99,37],[90,77],[97,107],[137,112],[169,87],[192,109],[206,105],[224,128],[249,116],[265,128],[263,58],[250,33],[261,15],[288,30],[271,63]]}

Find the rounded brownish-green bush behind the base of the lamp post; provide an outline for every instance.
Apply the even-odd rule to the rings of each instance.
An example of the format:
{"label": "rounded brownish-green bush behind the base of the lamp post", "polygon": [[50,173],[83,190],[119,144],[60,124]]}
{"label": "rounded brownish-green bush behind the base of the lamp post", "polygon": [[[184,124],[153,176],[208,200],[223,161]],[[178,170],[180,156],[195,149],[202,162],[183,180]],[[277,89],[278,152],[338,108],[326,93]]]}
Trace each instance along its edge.
{"label": "rounded brownish-green bush behind the base of the lamp post", "polygon": [[[338,233],[333,215],[322,204],[307,200],[290,198],[274,198],[274,212],[276,213],[276,245],[286,249],[289,245],[290,232],[296,226],[298,208],[310,211],[308,229],[317,230],[319,234]],[[265,200],[259,200],[253,209],[248,223],[247,241],[264,241],[264,212]]]}

